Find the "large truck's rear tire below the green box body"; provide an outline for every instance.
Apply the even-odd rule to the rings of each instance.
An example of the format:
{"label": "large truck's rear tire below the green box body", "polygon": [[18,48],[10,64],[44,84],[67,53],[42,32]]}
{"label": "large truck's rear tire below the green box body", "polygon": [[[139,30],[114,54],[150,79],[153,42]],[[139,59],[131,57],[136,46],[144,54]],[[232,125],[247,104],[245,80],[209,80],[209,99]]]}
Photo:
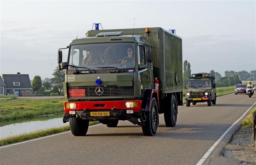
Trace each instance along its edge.
{"label": "large truck's rear tire below the green box body", "polygon": [[168,109],[164,112],[164,122],[166,127],[175,127],[178,115],[178,104],[176,97],[172,95],[172,100],[168,103]]}

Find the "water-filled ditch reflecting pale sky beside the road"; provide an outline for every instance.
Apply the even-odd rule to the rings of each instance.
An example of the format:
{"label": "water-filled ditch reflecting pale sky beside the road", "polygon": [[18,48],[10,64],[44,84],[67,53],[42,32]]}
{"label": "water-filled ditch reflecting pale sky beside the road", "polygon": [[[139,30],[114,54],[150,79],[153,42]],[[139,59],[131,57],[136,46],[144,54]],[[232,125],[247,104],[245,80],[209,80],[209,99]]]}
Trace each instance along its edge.
{"label": "water-filled ditch reflecting pale sky beside the road", "polygon": [[32,131],[68,125],[68,123],[62,122],[63,115],[64,113],[1,122],[0,139]]}

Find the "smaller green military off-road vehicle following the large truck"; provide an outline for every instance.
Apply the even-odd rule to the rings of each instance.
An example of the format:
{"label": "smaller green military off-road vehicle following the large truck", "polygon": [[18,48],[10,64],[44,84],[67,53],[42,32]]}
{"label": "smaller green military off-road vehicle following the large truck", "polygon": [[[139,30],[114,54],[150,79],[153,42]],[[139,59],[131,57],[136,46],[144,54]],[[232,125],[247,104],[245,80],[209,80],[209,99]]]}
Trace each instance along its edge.
{"label": "smaller green military off-road vehicle following the large truck", "polygon": [[216,104],[215,78],[212,74],[192,74],[189,77],[188,90],[186,91],[186,106],[192,102],[207,102],[208,106]]}

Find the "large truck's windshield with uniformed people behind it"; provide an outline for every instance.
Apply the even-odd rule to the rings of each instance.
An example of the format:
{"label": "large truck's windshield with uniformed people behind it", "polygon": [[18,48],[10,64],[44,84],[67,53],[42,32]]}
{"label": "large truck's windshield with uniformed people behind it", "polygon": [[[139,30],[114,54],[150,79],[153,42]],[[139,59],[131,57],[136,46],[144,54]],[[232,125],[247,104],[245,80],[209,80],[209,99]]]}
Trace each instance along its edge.
{"label": "large truck's windshield with uniformed people behind it", "polygon": [[[135,44],[129,43],[97,43],[73,45],[70,48],[68,64],[77,70],[107,69],[111,67],[126,69],[134,68]],[[69,69],[73,70],[74,67]]]}

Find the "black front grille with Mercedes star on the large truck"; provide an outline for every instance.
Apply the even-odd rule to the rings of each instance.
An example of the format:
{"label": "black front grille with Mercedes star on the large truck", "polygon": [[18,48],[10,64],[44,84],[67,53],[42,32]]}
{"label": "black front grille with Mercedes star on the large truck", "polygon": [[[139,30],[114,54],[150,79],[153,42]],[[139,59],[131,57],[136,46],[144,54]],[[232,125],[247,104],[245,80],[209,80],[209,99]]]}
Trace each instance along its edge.
{"label": "black front grille with Mercedes star on the large truck", "polygon": [[[85,89],[85,97],[97,97],[95,90],[99,86],[69,86],[68,89]],[[103,94],[100,96],[133,96],[133,86],[100,86]]]}

